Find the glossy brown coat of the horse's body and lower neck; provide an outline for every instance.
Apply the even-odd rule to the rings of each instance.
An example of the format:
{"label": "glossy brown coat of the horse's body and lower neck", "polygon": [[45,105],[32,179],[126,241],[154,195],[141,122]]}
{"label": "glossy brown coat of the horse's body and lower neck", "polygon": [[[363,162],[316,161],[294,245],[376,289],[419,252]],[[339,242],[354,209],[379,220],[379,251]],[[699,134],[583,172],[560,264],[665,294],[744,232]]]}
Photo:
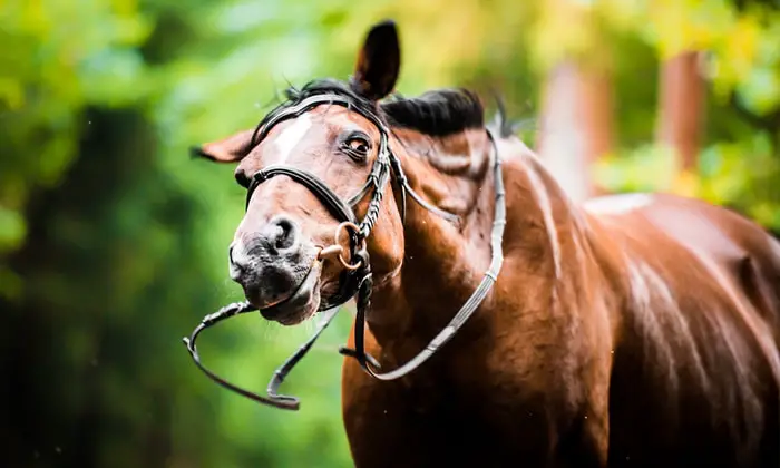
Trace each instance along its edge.
{"label": "glossy brown coat of the horse's body and lower neck", "polygon": [[[494,293],[400,381],[344,362],[357,466],[777,467],[778,242],[671,195],[574,206],[519,140],[499,148],[508,225]],[[403,267],[374,294],[370,326],[390,368],[480,279],[493,185],[475,184],[460,191],[477,195],[462,234],[411,211]]]}

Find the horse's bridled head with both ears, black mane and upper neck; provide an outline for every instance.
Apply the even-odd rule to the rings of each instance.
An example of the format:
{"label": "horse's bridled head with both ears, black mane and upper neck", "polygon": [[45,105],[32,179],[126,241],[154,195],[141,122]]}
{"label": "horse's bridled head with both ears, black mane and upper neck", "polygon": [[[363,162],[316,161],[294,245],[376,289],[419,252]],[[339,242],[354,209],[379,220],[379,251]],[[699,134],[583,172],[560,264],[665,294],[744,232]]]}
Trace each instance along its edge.
{"label": "horse's bridled head with both ears, black mane and upper neck", "polygon": [[[438,215],[431,226],[457,228],[458,215],[474,207],[472,179],[481,181],[489,159],[474,154],[490,148],[479,99],[440,90],[382,103],[399,69],[396,26],[380,22],[349,82],[290,90],[256,128],[197,149],[237,163],[247,201],[228,250],[230,275],[264,318],[291,325],[345,302],[369,257],[374,281],[397,274],[407,196]],[[437,235],[423,237],[437,243]]]}

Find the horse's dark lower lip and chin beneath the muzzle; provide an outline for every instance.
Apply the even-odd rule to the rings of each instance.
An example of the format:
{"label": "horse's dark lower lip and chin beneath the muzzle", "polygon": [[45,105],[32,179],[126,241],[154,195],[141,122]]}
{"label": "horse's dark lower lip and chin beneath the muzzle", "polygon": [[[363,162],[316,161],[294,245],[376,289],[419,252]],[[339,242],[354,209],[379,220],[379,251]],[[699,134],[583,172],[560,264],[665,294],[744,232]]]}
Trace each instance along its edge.
{"label": "horse's dark lower lip and chin beneath the muzzle", "polygon": [[263,309],[260,314],[282,325],[296,325],[316,313],[320,306],[321,262],[314,262],[301,284],[285,300]]}

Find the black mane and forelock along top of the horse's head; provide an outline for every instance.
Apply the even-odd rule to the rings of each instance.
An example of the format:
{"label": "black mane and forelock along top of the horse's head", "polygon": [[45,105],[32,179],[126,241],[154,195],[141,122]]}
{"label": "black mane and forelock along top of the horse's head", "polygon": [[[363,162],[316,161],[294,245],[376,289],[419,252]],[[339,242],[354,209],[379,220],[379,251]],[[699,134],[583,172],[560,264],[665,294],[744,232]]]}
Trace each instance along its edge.
{"label": "black mane and forelock along top of the horse's head", "polygon": [[[306,84],[301,89],[287,88],[287,103],[280,107],[295,105],[310,96],[322,94],[348,97],[361,110],[376,115],[391,127],[410,128],[431,136],[451,135],[485,125],[481,100],[475,92],[461,88],[437,89],[415,98],[393,95],[377,105],[359,96],[342,81],[320,79]],[[279,108],[263,120],[276,110]]]}

